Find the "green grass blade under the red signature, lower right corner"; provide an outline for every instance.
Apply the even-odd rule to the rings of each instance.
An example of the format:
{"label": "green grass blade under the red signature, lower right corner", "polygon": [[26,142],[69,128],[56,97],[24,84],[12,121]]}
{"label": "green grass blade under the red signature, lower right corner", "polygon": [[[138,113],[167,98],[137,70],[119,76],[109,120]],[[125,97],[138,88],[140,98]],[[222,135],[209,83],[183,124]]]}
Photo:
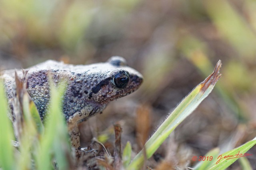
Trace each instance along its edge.
{"label": "green grass blade under the red signature, lower right corner", "polygon": [[[221,154],[218,158],[215,158],[212,166],[208,167],[209,170],[224,170],[228,168],[232,163],[234,163],[238,158],[238,156],[246,156],[246,152],[251,149],[254,145],[256,145],[256,137],[252,139],[252,141],[249,141],[245,143],[244,145],[232,149],[228,152],[225,152]],[[224,156],[227,156],[226,158]],[[250,156],[250,155],[247,155]],[[229,159],[228,159],[229,158]]]}

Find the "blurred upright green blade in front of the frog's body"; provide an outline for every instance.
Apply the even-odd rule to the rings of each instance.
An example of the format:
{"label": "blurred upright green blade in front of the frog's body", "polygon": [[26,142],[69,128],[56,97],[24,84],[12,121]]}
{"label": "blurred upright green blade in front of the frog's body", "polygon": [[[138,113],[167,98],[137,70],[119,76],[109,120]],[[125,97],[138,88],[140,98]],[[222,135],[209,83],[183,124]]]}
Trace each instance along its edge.
{"label": "blurred upright green blade in front of the frog's body", "polygon": [[[68,133],[66,122],[62,114],[62,99],[66,88],[66,83],[60,82],[58,90],[51,83],[51,101],[48,111],[48,119],[45,123],[44,135],[40,143],[37,157],[38,170],[52,169],[52,158],[55,156],[58,169],[68,169],[68,160],[64,149],[70,149],[68,143]],[[63,147],[64,146],[64,147]],[[71,151],[70,151],[71,152]]]}

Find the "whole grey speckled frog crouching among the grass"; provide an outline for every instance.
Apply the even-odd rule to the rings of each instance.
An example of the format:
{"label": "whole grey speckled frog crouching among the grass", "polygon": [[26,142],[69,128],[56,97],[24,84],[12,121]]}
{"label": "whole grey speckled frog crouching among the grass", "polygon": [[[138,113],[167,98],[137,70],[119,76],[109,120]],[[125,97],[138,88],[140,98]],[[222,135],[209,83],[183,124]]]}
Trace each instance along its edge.
{"label": "whole grey speckled frog crouching among the grass", "polygon": [[[25,88],[36,105],[42,121],[49,116],[47,112],[50,102],[49,74],[55,86],[60,80],[66,81],[62,112],[68,126],[70,143],[76,150],[81,149],[78,123],[96,113],[102,113],[109,102],[131,94],[143,82],[142,74],[129,67],[127,61],[120,56],[113,56],[105,63],[88,65],[48,60],[26,70]],[[9,101],[15,94],[15,74],[22,79],[23,73],[22,69],[2,71],[1,78],[4,79]],[[11,104],[10,107],[12,110]],[[12,119],[15,121],[14,114]]]}

